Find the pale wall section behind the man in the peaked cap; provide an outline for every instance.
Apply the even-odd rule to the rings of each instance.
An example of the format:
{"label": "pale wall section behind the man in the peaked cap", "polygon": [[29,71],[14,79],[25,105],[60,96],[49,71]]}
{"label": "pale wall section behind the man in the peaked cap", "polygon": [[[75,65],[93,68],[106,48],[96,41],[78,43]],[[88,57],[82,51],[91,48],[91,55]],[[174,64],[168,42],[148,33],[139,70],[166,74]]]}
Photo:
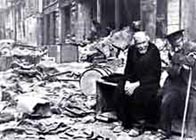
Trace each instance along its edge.
{"label": "pale wall section behind the man in the peaked cap", "polygon": [[185,29],[185,36],[196,40],[195,13],[195,0],[167,0],[167,34]]}

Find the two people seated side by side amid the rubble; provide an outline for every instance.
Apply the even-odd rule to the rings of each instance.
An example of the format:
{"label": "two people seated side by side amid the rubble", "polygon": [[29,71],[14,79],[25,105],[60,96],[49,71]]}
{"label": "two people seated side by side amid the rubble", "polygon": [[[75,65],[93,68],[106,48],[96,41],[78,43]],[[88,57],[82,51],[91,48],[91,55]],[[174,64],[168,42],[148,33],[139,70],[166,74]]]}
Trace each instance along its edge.
{"label": "two people seated side by side amid the rubble", "polygon": [[[196,90],[196,47],[184,41],[183,32],[179,30],[166,37],[171,50],[163,87],[159,84],[162,68],[158,48],[145,32],[134,33],[124,75],[112,99],[118,118],[130,130],[129,135],[138,136],[150,124],[158,124],[160,139],[167,139],[172,134],[173,120],[182,120],[190,71],[190,94]],[[189,109],[193,110],[193,105]]]}

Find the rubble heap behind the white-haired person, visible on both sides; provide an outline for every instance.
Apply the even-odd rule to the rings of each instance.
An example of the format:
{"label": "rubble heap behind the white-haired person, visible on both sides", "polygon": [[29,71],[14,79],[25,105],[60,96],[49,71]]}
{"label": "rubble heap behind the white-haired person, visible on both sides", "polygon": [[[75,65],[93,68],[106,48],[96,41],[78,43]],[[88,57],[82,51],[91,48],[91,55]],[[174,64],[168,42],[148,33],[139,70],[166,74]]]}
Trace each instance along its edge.
{"label": "rubble heap behind the white-haired person, visible on both sides", "polygon": [[[107,37],[100,38],[87,45],[78,45],[80,60],[90,63],[106,63],[114,71],[126,63],[127,46],[133,44],[133,32],[129,27],[113,31]],[[170,46],[166,39],[157,38],[153,41],[160,50],[162,67],[169,64],[168,51]]]}

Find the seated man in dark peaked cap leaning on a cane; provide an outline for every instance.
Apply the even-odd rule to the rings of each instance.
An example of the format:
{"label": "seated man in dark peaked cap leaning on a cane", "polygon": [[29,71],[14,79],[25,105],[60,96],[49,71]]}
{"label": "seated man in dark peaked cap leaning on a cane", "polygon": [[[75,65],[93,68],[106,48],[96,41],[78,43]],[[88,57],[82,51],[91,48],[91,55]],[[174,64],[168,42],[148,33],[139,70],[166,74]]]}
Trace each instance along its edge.
{"label": "seated man in dark peaked cap leaning on a cane", "polygon": [[[168,77],[161,91],[161,129],[159,132],[163,139],[171,136],[173,120],[182,122],[190,68],[193,69],[192,80],[196,81],[194,54],[196,46],[184,41],[183,32],[184,30],[179,30],[166,37],[171,44],[171,51],[169,52]],[[190,93],[195,92],[193,89],[196,85],[193,81]]]}

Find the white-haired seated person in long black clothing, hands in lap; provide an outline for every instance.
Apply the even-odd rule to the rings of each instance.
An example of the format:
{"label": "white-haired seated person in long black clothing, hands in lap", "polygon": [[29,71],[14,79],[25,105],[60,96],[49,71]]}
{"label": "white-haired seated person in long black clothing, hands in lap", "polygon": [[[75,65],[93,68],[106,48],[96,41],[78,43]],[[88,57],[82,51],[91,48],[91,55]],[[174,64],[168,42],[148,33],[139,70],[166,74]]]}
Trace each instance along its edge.
{"label": "white-haired seated person in long black clothing, hands in lap", "polygon": [[125,74],[113,98],[116,111],[125,128],[133,128],[131,136],[142,132],[146,122],[156,122],[156,102],[161,75],[161,59],[157,47],[145,32],[136,32],[129,46]]}

